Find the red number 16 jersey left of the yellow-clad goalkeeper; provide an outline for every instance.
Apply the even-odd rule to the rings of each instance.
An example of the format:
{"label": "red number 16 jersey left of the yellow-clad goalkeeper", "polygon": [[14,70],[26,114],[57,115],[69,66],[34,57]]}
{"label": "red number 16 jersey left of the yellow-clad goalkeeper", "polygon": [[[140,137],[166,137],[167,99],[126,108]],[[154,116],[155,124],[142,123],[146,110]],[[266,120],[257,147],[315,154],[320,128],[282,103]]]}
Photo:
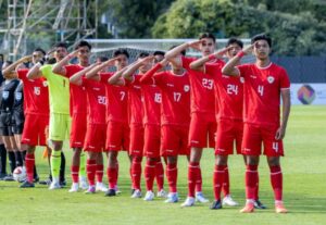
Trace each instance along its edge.
{"label": "red number 16 jersey left of the yellow-clad goalkeeper", "polygon": [[28,79],[28,68],[17,71],[18,78],[23,82],[24,113],[25,114],[49,114],[49,90],[48,83],[43,78]]}

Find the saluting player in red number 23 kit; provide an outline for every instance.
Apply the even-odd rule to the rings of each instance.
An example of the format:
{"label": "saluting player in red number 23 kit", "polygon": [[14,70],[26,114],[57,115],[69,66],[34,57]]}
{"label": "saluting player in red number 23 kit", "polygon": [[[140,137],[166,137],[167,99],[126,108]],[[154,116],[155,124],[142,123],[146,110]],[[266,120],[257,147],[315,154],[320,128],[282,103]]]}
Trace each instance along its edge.
{"label": "saluting player in red number 23 kit", "polygon": [[[166,52],[165,57],[167,59],[174,58],[180,51],[189,47],[199,50],[201,54],[205,57],[214,52],[215,46],[216,41],[214,35],[204,33],[199,37],[199,40],[183,43]],[[214,82],[202,68],[200,71],[193,71],[189,67],[190,63],[195,60],[196,58],[181,57],[180,60],[177,61],[179,66],[188,71],[191,86],[191,122],[189,129],[189,146],[191,150],[188,165],[188,198],[183,207],[193,205],[195,200],[199,202],[209,201],[201,191],[202,178],[200,159],[203,148],[214,148],[216,132]],[[218,64],[221,62],[216,61],[216,59],[211,59],[210,63]],[[227,168],[226,173],[228,176]],[[196,189],[197,192],[195,193]],[[229,205],[236,204],[229,195],[229,184],[227,182],[224,184],[224,190],[226,192],[225,202]]]}

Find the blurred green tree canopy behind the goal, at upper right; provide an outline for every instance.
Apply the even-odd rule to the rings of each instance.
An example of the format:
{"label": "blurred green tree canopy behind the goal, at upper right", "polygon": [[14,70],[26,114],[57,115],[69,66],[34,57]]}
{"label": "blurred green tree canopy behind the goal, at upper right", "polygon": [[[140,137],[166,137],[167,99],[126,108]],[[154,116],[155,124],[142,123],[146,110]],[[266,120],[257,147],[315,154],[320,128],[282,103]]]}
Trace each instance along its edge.
{"label": "blurred green tree canopy behind the goal, at upper right", "polygon": [[277,54],[326,52],[326,3],[312,0],[177,0],[154,26],[155,38],[218,38],[271,35]]}

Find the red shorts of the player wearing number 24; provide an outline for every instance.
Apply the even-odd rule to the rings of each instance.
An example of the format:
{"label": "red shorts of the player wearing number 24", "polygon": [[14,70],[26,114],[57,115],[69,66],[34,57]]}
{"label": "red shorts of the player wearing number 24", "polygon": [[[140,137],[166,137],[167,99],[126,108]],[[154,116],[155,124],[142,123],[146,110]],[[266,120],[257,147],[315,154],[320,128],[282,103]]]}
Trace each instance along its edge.
{"label": "red shorts of the player wearing number 24", "polygon": [[243,122],[234,120],[221,120],[217,123],[215,154],[228,155],[234,153],[236,141],[237,153],[241,154],[243,135]]}

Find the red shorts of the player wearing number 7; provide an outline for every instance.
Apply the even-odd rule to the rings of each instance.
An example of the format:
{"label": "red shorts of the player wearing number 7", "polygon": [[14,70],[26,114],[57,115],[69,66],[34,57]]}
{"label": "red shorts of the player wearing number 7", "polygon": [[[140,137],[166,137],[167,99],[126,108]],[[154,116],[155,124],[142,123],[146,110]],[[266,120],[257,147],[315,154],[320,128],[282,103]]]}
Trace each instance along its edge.
{"label": "red shorts of the player wearing number 7", "polygon": [[129,149],[130,129],[127,123],[109,121],[106,128],[106,151]]}

